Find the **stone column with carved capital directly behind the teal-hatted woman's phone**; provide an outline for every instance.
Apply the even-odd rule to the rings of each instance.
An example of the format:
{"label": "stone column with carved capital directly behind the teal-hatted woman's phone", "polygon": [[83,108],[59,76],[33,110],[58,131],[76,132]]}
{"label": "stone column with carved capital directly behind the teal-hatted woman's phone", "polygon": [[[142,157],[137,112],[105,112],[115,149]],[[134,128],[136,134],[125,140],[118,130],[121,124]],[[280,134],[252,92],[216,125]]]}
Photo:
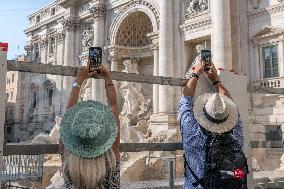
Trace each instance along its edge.
{"label": "stone column with carved capital directly behind the teal-hatted woman's phone", "polygon": [[[93,4],[89,11],[94,18],[94,47],[104,48],[105,45],[105,14],[106,7],[103,1]],[[103,59],[104,60],[104,59]],[[104,63],[104,62],[103,62]],[[92,80],[92,99],[106,103],[106,93],[104,88],[104,81],[93,79]]]}

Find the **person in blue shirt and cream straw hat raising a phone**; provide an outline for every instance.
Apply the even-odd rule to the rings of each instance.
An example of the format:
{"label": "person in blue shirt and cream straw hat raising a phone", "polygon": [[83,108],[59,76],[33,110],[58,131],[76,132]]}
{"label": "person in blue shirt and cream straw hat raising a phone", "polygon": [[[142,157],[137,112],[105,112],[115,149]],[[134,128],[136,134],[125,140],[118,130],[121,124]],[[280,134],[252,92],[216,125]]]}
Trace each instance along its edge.
{"label": "person in blue shirt and cream straw hat raising a phone", "polygon": [[[184,189],[214,188],[204,185],[207,150],[212,144],[206,146],[209,138],[207,133],[213,133],[214,136],[221,136],[224,133],[231,135],[232,133],[234,139],[231,141],[235,141],[240,151],[243,146],[243,127],[232,96],[219,80],[215,66],[209,66],[210,71],[204,71],[204,65],[205,63],[199,60],[199,63],[193,67],[179,105],[179,120],[185,151]],[[199,96],[194,103],[197,81],[203,72],[212,81],[218,93],[205,93]],[[243,154],[242,151],[240,153]],[[214,189],[217,188],[223,189],[223,187]]]}

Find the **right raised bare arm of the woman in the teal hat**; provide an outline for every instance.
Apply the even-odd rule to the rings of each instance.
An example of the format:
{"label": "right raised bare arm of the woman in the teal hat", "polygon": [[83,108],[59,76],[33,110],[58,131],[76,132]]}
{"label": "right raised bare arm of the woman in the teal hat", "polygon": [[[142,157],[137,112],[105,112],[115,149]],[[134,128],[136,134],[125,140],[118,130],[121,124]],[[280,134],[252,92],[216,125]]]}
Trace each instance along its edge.
{"label": "right raised bare arm of the woman in the teal hat", "polygon": [[109,71],[104,67],[100,66],[99,68],[96,69],[101,77],[104,78],[105,80],[105,89],[106,89],[106,95],[107,95],[107,102],[109,107],[112,110],[112,113],[114,115],[117,129],[118,129],[118,134],[116,137],[116,140],[114,144],[112,145],[112,149],[115,153],[116,159],[120,159],[120,151],[119,151],[119,146],[120,146],[120,119],[119,119],[119,109],[118,109],[118,104],[117,104],[117,95],[116,95],[116,90],[111,78],[111,74]]}

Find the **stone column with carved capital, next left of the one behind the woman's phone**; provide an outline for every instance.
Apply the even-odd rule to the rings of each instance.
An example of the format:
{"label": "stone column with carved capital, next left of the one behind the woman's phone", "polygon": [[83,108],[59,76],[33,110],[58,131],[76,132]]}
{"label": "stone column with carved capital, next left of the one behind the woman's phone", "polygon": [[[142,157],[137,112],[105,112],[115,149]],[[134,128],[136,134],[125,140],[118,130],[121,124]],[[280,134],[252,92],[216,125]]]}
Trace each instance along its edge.
{"label": "stone column with carved capital, next left of the one behind the woman's phone", "polygon": [[[75,66],[75,29],[78,27],[78,21],[72,17],[65,18],[63,21],[63,28],[65,31],[64,41],[64,66]],[[63,77],[63,91],[62,91],[62,104],[63,110],[68,102],[68,98],[72,89],[72,82],[74,78]]]}

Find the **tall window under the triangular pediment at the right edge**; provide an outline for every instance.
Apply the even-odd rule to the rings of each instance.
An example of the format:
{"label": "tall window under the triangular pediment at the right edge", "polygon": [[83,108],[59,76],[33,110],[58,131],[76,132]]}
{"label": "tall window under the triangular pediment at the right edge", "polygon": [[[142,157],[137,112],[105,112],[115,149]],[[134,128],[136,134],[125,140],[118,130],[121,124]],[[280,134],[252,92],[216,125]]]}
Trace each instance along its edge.
{"label": "tall window under the triangular pediment at the right edge", "polygon": [[279,77],[277,45],[263,47],[264,78]]}

